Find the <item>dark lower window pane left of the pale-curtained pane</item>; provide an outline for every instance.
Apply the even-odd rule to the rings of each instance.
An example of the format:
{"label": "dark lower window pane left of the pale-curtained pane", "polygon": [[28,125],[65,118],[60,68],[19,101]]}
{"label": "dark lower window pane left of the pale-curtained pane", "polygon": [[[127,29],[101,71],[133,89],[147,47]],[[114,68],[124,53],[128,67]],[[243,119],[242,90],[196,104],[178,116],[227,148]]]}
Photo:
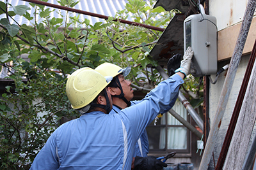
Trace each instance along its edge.
{"label": "dark lower window pane left of the pale-curtained pane", "polygon": [[165,148],[165,127],[147,127],[150,150]]}

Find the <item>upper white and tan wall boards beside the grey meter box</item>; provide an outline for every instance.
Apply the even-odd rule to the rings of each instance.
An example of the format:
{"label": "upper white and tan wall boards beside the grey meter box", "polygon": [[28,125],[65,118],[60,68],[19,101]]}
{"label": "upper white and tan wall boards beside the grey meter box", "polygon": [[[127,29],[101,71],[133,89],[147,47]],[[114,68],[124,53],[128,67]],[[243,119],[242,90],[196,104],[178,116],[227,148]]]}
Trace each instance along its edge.
{"label": "upper white and tan wall boards beside the grey meter box", "polygon": [[[209,0],[209,15],[216,17],[218,27],[218,60],[232,57],[248,0]],[[252,51],[256,38],[256,11],[243,54]]]}

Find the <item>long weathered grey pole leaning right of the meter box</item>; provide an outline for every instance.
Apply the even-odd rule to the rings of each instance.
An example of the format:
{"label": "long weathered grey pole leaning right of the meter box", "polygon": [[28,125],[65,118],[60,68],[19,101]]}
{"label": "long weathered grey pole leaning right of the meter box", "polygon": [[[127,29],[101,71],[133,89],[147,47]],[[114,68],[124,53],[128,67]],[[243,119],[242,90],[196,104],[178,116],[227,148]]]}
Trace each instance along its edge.
{"label": "long weathered grey pole leaning right of the meter box", "polygon": [[198,170],[205,170],[209,166],[209,162],[211,160],[212,151],[214,149],[214,145],[218,136],[218,131],[221,126],[221,120],[225,113],[225,108],[227,106],[228,97],[230,95],[230,91],[232,89],[232,85],[234,83],[234,78],[236,76],[237,67],[241,60],[241,56],[243,53],[244,44],[250,29],[250,25],[252,23],[253,14],[255,12],[256,2],[255,0],[249,0],[246,6],[246,11],[244,13],[243,22],[241,25],[241,29],[239,31],[239,36],[237,38],[236,46],[234,49],[234,53],[230,60],[230,65],[227,71],[227,77],[223,84],[223,89],[221,90],[221,96],[218,103],[218,108],[216,110],[216,114],[214,120],[211,125],[211,131],[209,133],[209,138],[207,139],[207,143],[204,150],[204,155],[201,160],[201,164]]}

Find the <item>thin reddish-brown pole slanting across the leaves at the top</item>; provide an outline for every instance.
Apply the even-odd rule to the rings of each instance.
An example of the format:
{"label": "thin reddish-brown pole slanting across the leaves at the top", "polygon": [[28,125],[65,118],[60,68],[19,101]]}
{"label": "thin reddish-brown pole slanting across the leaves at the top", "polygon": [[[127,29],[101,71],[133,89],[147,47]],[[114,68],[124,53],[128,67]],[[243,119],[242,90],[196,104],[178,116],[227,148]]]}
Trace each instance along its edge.
{"label": "thin reddish-brown pole slanting across the leaves at the top", "polygon": [[[84,15],[90,15],[92,17],[98,17],[98,18],[102,18],[102,19],[106,19],[106,20],[108,20],[108,18],[109,18],[106,15],[100,15],[100,14],[97,14],[97,13],[91,13],[91,12],[86,12],[86,11],[82,11],[82,10],[76,10],[74,8],[68,8],[67,6],[60,6],[60,5],[57,5],[57,4],[45,3],[44,1],[38,1],[38,0],[22,0],[22,1],[27,1],[27,2],[35,3],[35,4],[42,4],[44,6],[51,6],[52,8],[58,8],[60,10],[67,10],[67,11],[72,11],[72,12],[76,12],[76,13],[81,13],[81,14],[84,14]],[[121,23],[124,23],[124,24],[129,24],[129,25],[145,27],[147,29],[152,29],[152,30],[156,30],[156,31],[162,31],[162,32],[164,31],[164,29],[160,28],[160,27],[154,27],[154,26],[151,26],[151,25],[141,24],[141,23],[138,23],[138,22],[131,22],[131,21],[122,20],[122,19],[119,19],[119,18],[115,18],[113,21],[118,21],[118,22],[121,22]]]}

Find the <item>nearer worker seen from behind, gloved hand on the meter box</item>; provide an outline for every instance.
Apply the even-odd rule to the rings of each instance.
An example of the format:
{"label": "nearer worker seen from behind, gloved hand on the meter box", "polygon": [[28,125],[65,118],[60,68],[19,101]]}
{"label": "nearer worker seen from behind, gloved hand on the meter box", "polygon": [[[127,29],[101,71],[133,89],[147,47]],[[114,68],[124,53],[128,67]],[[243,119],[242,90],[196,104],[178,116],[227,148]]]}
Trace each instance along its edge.
{"label": "nearer worker seen from behind, gloved hand on the meter box", "polygon": [[[148,124],[172,102],[189,74],[188,48],[177,73],[138,104],[109,115],[111,76],[84,67],[70,75],[66,92],[80,118],[58,127],[36,155],[31,169],[131,169],[134,146]],[[166,95],[168,94],[168,95]],[[164,164],[164,163],[163,163]]]}

